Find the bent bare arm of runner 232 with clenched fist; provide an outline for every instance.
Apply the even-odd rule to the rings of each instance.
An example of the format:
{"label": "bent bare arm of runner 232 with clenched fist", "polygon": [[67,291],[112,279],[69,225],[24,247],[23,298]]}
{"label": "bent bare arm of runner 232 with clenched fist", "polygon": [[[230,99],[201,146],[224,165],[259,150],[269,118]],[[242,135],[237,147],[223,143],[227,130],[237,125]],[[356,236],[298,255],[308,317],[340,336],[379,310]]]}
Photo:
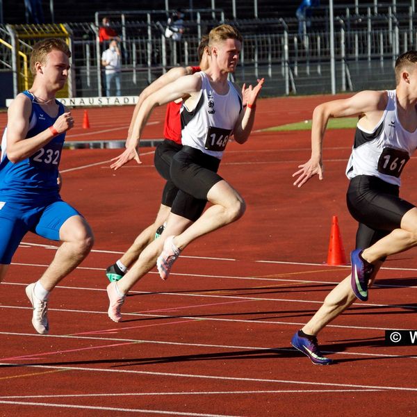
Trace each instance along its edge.
{"label": "bent bare arm of runner 232 with clenched fist", "polygon": [[[8,109],[7,156],[10,162],[17,163],[33,155],[47,145],[54,136],[51,129],[45,129],[32,138],[26,138],[29,129],[32,103],[25,95],[18,95]],[[63,133],[74,125],[71,113],[63,113],[54,123],[54,129]]]}

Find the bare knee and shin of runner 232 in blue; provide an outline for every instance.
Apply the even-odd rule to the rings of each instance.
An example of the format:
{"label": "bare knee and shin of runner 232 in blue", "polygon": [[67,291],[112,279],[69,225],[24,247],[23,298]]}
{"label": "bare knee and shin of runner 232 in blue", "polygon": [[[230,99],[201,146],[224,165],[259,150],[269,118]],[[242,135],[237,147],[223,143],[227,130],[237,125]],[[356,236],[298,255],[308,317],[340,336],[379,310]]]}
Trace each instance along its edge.
{"label": "bare knee and shin of runner 232 in blue", "polygon": [[53,261],[40,278],[46,291],[51,291],[58,282],[74,270],[90,253],[94,238],[90,226],[81,215],[65,220],[59,229],[62,244]]}

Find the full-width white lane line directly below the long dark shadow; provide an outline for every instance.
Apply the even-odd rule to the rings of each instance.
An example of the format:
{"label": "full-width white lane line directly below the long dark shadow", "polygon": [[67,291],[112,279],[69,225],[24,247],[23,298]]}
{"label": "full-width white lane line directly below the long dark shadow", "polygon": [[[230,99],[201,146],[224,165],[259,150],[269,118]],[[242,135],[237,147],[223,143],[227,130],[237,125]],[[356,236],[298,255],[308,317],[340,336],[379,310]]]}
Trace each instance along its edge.
{"label": "full-width white lane line directly below the long dark shadow", "polygon": [[[13,363],[0,363],[0,366],[17,366]],[[65,370],[83,370],[93,373],[125,373],[133,375],[153,375],[157,377],[179,377],[179,378],[196,378],[196,379],[218,379],[223,381],[236,382],[268,382],[273,384],[300,384],[300,385],[317,385],[317,386],[339,386],[349,389],[377,389],[386,391],[417,391],[417,387],[412,386],[383,386],[383,385],[365,385],[365,384],[341,384],[338,382],[318,382],[318,381],[297,381],[291,379],[266,379],[266,378],[248,378],[248,377],[227,377],[222,375],[197,375],[183,373],[152,372],[146,370],[131,369],[105,369],[105,368],[88,368],[82,366],[54,366],[54,365],[24,365],[25,368],[46,368],[46,369],[65,369]]]}

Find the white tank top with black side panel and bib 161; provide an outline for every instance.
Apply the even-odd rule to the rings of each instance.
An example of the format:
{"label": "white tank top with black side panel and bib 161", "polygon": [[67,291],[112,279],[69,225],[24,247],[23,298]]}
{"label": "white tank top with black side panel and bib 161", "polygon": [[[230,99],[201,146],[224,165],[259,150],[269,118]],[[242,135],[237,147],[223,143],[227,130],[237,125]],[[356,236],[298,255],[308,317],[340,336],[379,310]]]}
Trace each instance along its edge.
{"label": "white tank top with black side panel and bib 161", "polygon": [[366,131],[357,125],[346,168],[349,179],[372,175],[387,183],[401,185],[400,174],[417,147],[417,129],[409,132],[401,126],[396,91],[387,92],[388,103],[375,129]]}

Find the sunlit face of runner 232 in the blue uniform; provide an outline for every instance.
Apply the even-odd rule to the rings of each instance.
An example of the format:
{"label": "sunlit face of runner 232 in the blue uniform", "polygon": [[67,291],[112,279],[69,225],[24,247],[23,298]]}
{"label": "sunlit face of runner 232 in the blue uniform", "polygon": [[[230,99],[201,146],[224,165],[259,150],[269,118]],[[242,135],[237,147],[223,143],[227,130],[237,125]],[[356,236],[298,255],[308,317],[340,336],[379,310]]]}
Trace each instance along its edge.
{"label": "sunlit face of runner 232 in the blue uniform", "polygon": [[47,54],[45,63],[36,63],[37,76],[41,75],[44,82],[52,90],[60,90],[65,85],[70,70],[70,58],[63,51],[56,49]]}

